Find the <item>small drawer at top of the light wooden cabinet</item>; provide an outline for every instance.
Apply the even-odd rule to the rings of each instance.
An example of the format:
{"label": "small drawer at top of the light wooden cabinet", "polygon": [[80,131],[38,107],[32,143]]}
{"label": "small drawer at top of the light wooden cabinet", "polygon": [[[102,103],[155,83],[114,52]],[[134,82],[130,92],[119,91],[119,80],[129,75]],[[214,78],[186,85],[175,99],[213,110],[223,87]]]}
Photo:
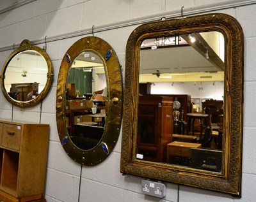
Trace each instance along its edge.
{"label": "small drawer at top of the light wooden cabinet", "polygon": [[20,150],[21,126],[3,124],[2,147]]}

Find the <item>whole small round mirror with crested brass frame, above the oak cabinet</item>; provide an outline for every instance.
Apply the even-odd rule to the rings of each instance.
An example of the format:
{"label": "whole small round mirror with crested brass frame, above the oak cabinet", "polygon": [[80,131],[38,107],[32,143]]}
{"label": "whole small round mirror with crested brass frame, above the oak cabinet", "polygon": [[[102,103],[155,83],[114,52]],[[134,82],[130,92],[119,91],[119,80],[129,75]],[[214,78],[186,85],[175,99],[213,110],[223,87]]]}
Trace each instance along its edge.
{"label": "whole small round mirror with crested brass frame, above the oak cabinet", "polygon": [[53,75],[49,55],[24,40],[4,62],[1,89],[12,105],[20,108],[34,106],[47,95]]}

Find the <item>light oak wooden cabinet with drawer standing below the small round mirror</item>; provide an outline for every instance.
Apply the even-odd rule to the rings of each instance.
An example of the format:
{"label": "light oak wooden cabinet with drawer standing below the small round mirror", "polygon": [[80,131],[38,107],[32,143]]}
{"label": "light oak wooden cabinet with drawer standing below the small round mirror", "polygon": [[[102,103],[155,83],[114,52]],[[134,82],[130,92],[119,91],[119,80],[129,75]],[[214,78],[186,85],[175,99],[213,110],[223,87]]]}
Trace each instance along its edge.
{"label": "light oak wooden cabinet with drawer standing below the small round mirror", "polygon": [[49,125],[0,120],[0,198],[42,199]]}

